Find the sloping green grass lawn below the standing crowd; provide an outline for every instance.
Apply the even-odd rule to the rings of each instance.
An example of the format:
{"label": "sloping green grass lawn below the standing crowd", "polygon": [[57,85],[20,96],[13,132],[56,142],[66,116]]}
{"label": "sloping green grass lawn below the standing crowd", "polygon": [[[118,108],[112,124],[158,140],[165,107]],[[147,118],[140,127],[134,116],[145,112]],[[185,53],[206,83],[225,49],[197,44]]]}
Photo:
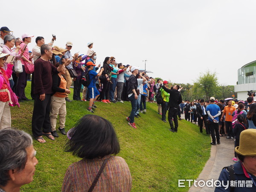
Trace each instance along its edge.
{"label": "sloping green grass lawn below the standing crowd", "polygon": [[[30,99],[29,81],[26,96]],[[72,96],[73,93],[70,99]],[[161,121],[157,114],[156,104],[147,102],[147,113],[135,118],[137,129],[125,119],[131,112],[130,102],[96,105],[94,114],[108,119],[116,130],[121,146],[118,156],[126,160],[131,170],[132,191],[188,191],[188,187],[178,188],[178,180],[198,177],[210,155],[209,136],[185,120],[179,121],[178,132],[172,133],[169,123]],[[67,102],[66,131],[90,113],[87,107],[88,102]],[[12,107],[12,126],[32,134],[32,111],[33,101],[20,103],[20,108]],[[45,138],[47,143],[34,140],[39,163],[34,181],[21,191],[61,191],[67,167],[80,159],[63,151],[67,137],[59,135],[55,141]]]}

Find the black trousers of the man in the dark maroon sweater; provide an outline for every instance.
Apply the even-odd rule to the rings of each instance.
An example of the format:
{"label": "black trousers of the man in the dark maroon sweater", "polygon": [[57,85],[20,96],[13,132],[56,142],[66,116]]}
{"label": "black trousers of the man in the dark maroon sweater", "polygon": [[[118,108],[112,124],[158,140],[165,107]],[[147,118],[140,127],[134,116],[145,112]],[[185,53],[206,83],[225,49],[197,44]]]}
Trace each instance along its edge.
{"label": "black trousers of the man in the dark maroon sweater", "polygon": [[45,94],[44,101],[39,99],[40,95],[35,94],[34,110],[32,115],[32,134],[35,137],[52,131],[50,123],[51,94]]}

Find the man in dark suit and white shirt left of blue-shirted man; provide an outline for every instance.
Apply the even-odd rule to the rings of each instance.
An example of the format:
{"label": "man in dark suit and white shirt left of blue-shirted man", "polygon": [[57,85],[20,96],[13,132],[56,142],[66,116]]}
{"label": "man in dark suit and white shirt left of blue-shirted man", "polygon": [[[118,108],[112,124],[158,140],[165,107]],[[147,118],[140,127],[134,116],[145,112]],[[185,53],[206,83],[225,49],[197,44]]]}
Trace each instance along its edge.
{"label": "man in dark suit and white shirt left of blue-shirted man", "polygon": [[200,100],[200,105],[196,107],[196,111],[198,113],[198,125],[200,126],[200,132],[203,133],[203,122],[206,128],[206,133],[209,134],[209,128],[207,125],[207,112],[206,112],[206,106],[204,105],[204,99]]}

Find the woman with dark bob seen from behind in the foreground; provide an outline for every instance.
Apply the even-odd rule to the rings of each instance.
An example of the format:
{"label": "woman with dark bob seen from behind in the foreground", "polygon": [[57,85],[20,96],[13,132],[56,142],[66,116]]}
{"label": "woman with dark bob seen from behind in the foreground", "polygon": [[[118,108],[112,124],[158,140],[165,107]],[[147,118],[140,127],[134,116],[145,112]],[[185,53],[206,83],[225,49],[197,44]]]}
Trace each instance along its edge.
{"label": "woman with dark bob seen from behind in the foreground", "polygon": [[92,191],[93,188],[94,191],[131,191],[131,172],[127,163],[122,157],[111,155],[118,154],[120,146],[108,120],[85,115],[68,131],[67,137],[70,140],[65,151],[82,160],[67,168],[62,192]]}

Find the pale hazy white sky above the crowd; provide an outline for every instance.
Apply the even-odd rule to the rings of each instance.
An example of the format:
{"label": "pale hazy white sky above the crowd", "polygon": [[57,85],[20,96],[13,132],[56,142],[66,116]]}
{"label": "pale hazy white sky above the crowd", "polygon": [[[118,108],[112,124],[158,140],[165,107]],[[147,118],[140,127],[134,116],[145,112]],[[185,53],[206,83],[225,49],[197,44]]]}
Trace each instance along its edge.
{"label": "pale hazy white sky above the crowd", "polygon": [[[12,0],[1,7],[1,26],[15,37],[52,33],[54,45],[73,42],[71,53],[94,42],[97,62],[145,67],[153,77],[193,83],[206,70],[235,85],[237,70],[256,60],[254,0]],[[6,4],[6,5],[5,5]],[[6,8],[5,8],[6,6]],[[35,46],[35,38],[28,45]]]}

